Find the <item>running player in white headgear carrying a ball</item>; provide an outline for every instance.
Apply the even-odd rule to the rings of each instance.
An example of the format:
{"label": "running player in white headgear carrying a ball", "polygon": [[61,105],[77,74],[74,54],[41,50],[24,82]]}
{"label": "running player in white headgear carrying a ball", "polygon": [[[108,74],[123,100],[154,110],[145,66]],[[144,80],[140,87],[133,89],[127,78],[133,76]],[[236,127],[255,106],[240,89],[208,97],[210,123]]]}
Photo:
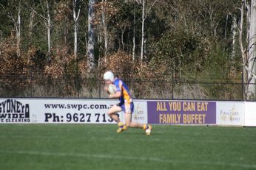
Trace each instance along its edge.
{"label": "running player in white headgear carrying a ball", "polygon": [[[110,94],[110,98],[119,99],[120,101],[118,105],[112,106],[110,110],[107,111],[107,115],[118,123],[117,132],[123,132],[124,130],[127,130],[128,127],[136,127],[141,128],[145,131],[147,130],[146,135],[150,135],[150,132],[152,130],[151,125],[140,124],[138,122],[132,121],[134,105],[127,85],[121,79],[115,77],[112,71],[107,71],[106,73],[104,73],[104,80],[107,86],[113,84],[116,87],[116,92],[114,94]],[[105,86],[104,90],[108,92],[107,86]],[[121,111],[124,112],[125,124],[120,121],[120,118],[117,115],[117,113]]]}

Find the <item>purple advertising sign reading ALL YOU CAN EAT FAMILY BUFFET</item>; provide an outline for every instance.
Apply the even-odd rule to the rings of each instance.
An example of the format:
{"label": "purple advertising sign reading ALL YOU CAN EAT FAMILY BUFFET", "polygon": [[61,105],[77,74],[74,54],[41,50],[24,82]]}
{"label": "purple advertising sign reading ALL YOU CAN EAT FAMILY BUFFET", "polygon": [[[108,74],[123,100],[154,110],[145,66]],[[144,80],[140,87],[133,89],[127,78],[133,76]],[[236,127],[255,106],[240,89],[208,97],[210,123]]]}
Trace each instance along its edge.
{"label": "purple advertising sign reading ALL YOU CAN EAT FAMILY BUFFET", "polygon": [[216,102],[149,101],[149,124],[216,124]]}

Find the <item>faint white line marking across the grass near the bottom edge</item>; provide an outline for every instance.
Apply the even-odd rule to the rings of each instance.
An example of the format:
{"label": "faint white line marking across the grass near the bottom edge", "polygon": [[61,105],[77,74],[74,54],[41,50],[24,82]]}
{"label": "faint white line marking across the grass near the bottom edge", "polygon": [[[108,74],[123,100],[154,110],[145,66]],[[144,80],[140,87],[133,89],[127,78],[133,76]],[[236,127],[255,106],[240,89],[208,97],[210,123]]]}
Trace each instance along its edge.
{"label": "faint white line marking across the grass near the bottom edge", "polygon": [[21,155],[39,155],[39,156],[55,156],[55,157],[94,157],[102,159],[120,159],[120,160],[141,160],[141,161],[153,161],[158,163],[186,163],[192,165],[209,165],[209,166],[238,166],[242,168],[256,168],[253,164],[239,164],[239,163],[223,163],[223,162],[209,162],[209,161],[187,161],[187,160],[170,160],[168,158],[159,157],[129,157],[125,155],[104,155],[104,154],[84,154],[84,153],[53,153],[53,152],[36,152],[36,151],[4,151],[0,150],[1,154],[21,154]]}

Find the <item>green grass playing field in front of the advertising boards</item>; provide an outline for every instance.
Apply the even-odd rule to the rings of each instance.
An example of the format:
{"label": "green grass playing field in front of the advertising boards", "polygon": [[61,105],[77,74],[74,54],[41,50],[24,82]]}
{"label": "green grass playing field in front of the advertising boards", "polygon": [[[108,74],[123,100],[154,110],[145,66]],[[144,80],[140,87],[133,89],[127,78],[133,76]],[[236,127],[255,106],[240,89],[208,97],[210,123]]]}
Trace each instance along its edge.
{"label": "green grass playing field in front of the advertising boards", "polygon": [[0,169],[256,169],[256,128],[0,124]]}

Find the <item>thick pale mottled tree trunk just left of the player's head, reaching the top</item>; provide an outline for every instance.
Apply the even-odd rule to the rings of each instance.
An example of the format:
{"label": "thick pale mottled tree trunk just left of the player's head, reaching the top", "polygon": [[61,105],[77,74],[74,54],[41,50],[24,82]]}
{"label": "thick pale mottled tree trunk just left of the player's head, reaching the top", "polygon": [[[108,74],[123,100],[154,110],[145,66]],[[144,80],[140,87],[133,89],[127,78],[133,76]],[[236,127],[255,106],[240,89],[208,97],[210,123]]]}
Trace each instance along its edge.
{"label": "thick pale mottled tree trunk just left of the player's head, reaching the top", "polygon": [[89,10],[88,10],[88,68],[89,71],[92,70],[95,66],[95,57],[94,57],[94,45],[95,45],[95,36],[93,31],[93,18],[94,18],[94,4],[95,0],[89,0]]}

